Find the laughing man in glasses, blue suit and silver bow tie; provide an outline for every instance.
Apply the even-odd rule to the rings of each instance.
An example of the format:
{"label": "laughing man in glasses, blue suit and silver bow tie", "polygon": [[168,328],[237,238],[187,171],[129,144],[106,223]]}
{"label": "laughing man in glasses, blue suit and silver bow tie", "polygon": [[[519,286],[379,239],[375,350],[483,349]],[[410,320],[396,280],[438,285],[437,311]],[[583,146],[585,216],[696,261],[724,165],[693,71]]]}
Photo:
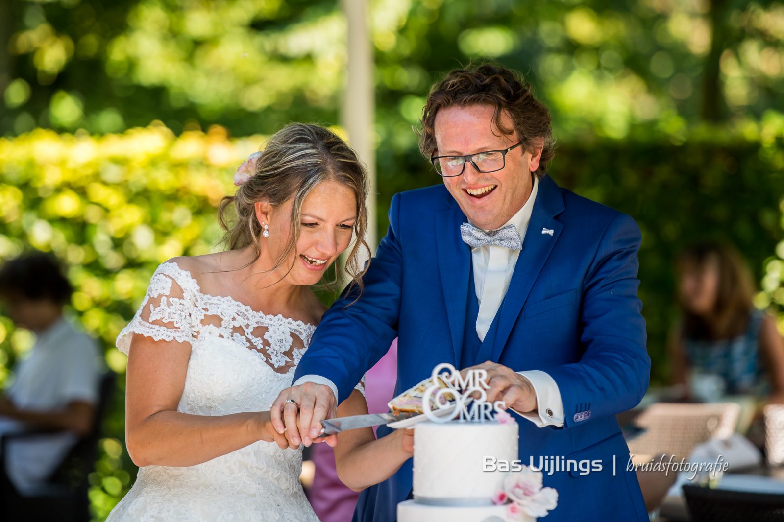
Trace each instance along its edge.
{"label": "laughing man in glasses, blue suit and silver bow tie", "polygon": [[[524,464],[600,462],[545,470],[559,494],[547,520],[648,520],[615,421],[648,388],[637,224],[546,175],[550,114],[506,68],[452,71],[434,86],[420,148],[443,183],[394,196],[364,293],[323,317],[271,408],[276,427],[310,444],[397,337],[396,393],[441,362],[481,366],[488,401],[524,418]],[[391,522],[411,493],[409,460],[363,492],[354,520]]]}

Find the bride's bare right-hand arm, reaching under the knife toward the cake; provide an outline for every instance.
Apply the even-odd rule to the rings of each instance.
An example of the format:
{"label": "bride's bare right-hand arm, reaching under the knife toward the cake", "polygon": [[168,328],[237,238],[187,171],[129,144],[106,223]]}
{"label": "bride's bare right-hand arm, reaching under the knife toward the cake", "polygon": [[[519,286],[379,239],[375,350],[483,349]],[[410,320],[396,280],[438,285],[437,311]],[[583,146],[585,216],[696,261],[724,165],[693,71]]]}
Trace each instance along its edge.
{"label": "bride's bare right-hand arm, reaching under the knife toward the cake", "polygon": [[[365,415],[368,404],[358,390],[338,406],[338,416]],[[338,477],[354,491],[362,491],[394,475],[414,455],[413,430],[395,430],[376,440],[373,430],[362,428],[338,433],[335,462]]]}

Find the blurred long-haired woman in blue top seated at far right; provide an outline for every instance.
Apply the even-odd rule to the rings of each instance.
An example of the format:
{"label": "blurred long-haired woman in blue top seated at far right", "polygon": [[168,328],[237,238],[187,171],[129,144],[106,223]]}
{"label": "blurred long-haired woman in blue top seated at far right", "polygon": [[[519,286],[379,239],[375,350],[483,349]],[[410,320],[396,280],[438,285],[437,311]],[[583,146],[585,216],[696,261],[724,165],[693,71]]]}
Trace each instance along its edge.
{"label": "blurred long-haired woman in blue top seated at far right", "polygon": [[[753,285],[735,249],[695,245],[677,261],[681,321],[671,335],[673,383],[717,376],[723,393],[784,401],[784,342],[775,319],[752,304]],[[695,390],[689,390],[688,398]]]}

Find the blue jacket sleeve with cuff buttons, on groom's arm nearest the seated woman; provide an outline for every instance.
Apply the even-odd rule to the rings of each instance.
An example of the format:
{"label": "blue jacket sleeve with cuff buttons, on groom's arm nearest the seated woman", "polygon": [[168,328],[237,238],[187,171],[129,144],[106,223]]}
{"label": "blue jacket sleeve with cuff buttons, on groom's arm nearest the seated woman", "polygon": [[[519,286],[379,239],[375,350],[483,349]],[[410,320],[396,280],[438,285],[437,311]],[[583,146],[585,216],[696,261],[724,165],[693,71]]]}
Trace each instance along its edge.
{"label": "blue jacket sleeve with cuff buttons, on groom's arm nearest the seated woman", "polygon": [[542,368],[557,383],[564,428],[636,406],[648,390],[651,359],[637,298],[640,229],[630,216],[612,220],[583,286],[579,362]]}

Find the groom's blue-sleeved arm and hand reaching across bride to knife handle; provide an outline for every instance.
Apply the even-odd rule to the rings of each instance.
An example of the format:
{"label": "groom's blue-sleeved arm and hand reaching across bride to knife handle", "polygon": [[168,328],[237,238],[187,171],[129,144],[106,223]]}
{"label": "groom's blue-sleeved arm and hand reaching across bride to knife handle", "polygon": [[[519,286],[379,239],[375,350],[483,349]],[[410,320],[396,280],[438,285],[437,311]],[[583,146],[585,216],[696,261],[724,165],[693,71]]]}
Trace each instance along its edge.
{"label": "groom's blue-sleeved arm and hand reaching across bride to knife handle", "polygon": [[[282,432],[285,422],[289,437],[299,433],[296,409],[286,408],[284,415],[285,401],[289,398],[296,401],[300,426],[311,426],[310,433],[313,430],[318,433],[321,420],[335,410],[339,400],[350,395],[397,337],[403,274],[400,207],[401,194],[396,194],[390,205],[387,235],[362,277],[361,297],[354,302],[358,295],[354,288],[352,292],[344,292],[327,310],[296,368],[295,386],[281,392],[270,408],[274,426]],[[332,393],[324,393],[325,386]],[[328,395],[333,397],[327,399]],[[289,410],[293,411],[289,413]],[[303,440],[308,444],[307,430],[303,431],[306,432]]]}

